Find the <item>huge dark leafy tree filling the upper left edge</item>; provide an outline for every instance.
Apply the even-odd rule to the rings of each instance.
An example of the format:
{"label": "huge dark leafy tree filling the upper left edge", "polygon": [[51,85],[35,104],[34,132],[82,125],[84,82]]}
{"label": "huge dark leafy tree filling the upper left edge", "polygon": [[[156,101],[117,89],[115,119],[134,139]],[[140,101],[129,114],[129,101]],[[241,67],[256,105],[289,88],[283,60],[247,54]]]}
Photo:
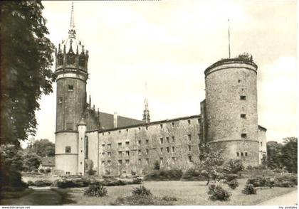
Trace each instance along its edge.
{"label": "huge dark leafy tree filling the upper left edge", "polygon": [[1,1],[1,144],[36,133],[38,99],[52,92],[53,43],[41,1]]}

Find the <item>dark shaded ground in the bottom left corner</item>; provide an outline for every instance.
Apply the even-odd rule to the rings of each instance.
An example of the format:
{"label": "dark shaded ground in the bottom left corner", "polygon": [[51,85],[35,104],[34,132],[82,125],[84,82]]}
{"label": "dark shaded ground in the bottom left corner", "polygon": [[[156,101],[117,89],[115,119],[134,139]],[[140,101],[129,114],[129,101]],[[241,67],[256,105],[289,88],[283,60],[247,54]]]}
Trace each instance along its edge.
{"label": "dark shaded ground in the bottom left corner", "polygon": [[62,197],[50,188],[38,188],[22,198],[1,200],[1,205],[62,205]]}

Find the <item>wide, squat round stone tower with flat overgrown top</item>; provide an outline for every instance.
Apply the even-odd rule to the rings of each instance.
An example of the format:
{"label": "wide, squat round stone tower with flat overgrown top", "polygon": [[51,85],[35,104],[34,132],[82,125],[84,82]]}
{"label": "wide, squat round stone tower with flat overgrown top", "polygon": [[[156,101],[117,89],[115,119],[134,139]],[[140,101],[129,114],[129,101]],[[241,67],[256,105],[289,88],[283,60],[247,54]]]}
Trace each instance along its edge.
{"label": "wide, squat round stone tower with flat overgrown top", "polygon": [[206,139],[224,159],[258,165],[257,65],[252,57],[219,60],[204,71]]}

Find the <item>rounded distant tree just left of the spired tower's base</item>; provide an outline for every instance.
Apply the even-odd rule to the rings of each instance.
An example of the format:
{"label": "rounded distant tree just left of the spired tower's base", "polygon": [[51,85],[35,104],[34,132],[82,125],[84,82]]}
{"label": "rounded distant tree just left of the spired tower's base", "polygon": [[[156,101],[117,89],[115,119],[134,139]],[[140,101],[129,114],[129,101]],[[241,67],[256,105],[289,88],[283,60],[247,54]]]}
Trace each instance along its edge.
{"label": "rounded distant tree just left of the spired tower's base", "polygon": [[55,156],[55,144],[48,139],[34,141],[31,149],[41,157]]}

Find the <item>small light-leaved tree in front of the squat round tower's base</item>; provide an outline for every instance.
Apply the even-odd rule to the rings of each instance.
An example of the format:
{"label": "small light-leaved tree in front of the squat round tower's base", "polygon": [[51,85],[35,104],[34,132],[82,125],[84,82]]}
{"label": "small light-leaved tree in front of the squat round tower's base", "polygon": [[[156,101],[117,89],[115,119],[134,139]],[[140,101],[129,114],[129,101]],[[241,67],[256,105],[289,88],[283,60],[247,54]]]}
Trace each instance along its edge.
{"label": "small light-leaved tree in front of the squat round tower's base", "polygon": [[207,178],[206,185],[209,185],[210,180],[223,179],[224,171],[222,164],[224,164],[224,158],[221,155],[221,150],[212,149],[209,144],[205,144],[205,152],[199,156],[201,163],[199,166],[202,168],[201,175]]}

